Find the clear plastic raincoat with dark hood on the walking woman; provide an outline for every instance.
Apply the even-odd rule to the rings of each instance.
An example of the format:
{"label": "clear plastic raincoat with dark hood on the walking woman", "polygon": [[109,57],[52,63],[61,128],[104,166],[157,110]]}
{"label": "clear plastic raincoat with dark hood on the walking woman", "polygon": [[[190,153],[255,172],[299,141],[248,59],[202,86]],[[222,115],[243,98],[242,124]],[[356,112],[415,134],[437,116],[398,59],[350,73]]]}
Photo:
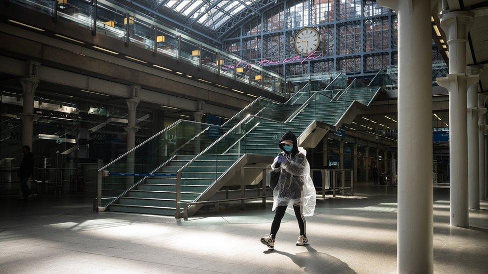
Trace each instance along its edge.
{"label": "clear plastic raincoat with dark hood on the walking woman", "polygon": [[[293,141],[293,149],[286,152],[280,144],[283,140]],[[315,210],[315,187],[310,177],[310,165],[306,160],[306,150],[298,147],[296,136],[286,132],[278,142],[279,147],[288,161],[278,163],[278,157],[274,158],[271,165],[272,171],[280,169],[277,185],[273,189],[273,211],[277,206],[288,206],[286,213],[294,215],[292,205],[301,205],[303,216],[312,216]]]}

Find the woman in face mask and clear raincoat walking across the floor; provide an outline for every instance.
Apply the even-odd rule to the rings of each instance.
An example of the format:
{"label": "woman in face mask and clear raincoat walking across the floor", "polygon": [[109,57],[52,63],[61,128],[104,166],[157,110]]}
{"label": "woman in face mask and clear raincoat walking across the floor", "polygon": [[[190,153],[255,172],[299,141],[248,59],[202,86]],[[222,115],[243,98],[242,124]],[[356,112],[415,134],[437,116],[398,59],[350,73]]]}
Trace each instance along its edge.
{"label": "woman in face mask and clear raincoat walking across the floor", "polygon": [[273,189],[274,219],[269,235],[261,238],[261,243],[274,248],[274,240],[284,213],[295,215],[300,229],[297,246],[308,242],[305,216],[312,216],[315,210],[315,187],[310,177],[310,165],[306,151],[298,147],[296,136],[288,131],[278,142],[282,152],[274,158],[272,172],[280,172]]}

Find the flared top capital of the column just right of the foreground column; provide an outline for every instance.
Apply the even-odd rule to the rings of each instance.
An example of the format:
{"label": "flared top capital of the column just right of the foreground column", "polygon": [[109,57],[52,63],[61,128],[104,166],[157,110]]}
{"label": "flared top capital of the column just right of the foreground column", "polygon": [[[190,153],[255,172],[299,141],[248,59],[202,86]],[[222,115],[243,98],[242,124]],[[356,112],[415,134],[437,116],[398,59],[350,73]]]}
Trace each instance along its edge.
{"label": "flared top capital of the column just right of the foreground column", "polygon": [[466,10],[447,12],[440,17],[440,26],[445,32],[447,45],[454,41],[466,42],[473,17],[474,14]]}

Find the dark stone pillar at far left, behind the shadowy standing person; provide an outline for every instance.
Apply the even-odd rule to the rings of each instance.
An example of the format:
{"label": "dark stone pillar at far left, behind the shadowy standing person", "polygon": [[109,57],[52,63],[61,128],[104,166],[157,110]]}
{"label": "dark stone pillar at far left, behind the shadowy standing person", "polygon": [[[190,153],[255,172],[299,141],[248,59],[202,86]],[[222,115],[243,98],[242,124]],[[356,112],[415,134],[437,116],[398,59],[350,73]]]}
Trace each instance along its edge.
{"label": "dark stone pillar at far left, behind the shadowy standing person", "polygon": [[[34,132],[34,93],[39,85],[39,79],[36,77],[20,78],[20,84],[23,88],[22,113],[17,117],[22,120],[22,146],[29,146],[32,151],[32,137]],[[21,154],[19,152],[19,154]],[[19,162],[20,164],[20,162]],[[27,180],[27,186],[30,187],[30,179]],[[22,190],[18,188],[18,198],[22,199]]]}

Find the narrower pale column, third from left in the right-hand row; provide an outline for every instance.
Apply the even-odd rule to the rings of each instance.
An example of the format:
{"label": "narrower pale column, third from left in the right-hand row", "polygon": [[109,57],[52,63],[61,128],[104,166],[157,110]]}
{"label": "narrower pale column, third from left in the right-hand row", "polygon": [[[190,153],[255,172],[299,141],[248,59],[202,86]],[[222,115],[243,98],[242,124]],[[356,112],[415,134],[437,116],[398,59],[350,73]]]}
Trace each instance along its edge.
{"label": "narrower pale column, third from left in the right-hand row", "polygon": [[[466,74],[479,75],[482,66],[467,66]],[[468,205],[479,209],[479,143],[478,120],[482,110],[478,106],[478,82],[467,89],[467,186]]]}

